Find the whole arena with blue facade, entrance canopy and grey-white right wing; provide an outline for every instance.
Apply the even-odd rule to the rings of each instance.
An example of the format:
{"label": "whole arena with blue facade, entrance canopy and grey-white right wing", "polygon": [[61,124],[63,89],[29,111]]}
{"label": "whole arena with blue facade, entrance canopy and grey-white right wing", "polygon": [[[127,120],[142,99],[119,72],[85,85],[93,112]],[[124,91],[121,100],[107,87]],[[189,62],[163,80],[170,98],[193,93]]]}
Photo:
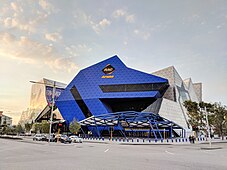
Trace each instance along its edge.
{"label": "whole arena with blue facade, entrance canopy and grey-white right wing", "polygon": [[173,66],[144,73],[118,56],[81,70],[56,101],[66,124],[77,119],[95,137],[186,137],[185,100],[201,101],[202,84],[182,80]]}

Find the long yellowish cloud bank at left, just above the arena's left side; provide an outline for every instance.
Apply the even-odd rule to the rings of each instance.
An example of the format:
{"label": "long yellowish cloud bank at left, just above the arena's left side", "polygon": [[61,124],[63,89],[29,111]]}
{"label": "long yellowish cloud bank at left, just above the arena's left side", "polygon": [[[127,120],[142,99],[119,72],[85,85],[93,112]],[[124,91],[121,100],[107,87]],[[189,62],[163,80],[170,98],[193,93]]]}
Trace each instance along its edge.
{"label": "long yellowish cloud bank at left, just above the arena's left side", "polygon": [[19,38],[12,34],[0,33],[0,55],[23,63],[43,65],[54,70],[75,70],[71,57],[60,55],[52,46],[47,46],[27,37]]}

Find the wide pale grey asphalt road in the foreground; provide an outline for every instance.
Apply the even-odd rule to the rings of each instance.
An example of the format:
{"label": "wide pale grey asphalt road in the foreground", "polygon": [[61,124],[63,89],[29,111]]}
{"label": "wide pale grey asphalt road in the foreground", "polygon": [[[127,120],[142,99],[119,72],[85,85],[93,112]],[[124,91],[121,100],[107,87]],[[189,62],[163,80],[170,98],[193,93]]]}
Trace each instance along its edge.
{"label": "wide pale grey asphalt road in the foreground", "polygon": [[0,139],[0,170],[226,170],[227,143],[119,145],[60,144]]}

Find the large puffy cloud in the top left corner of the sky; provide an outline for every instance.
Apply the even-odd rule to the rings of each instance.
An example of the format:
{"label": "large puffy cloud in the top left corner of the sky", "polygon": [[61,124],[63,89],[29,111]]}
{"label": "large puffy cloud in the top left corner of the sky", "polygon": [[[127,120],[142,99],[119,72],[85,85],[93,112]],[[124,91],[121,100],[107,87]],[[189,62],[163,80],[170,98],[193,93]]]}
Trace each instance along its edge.
{"label": "large puffy cloud in the top left corner of the sky", "polygon": [[[33,3],[39,3],[40,8],[31,10]],[[54,7],[44,1],[37,2],[22,1],[8,2],[0,7],[1,19],[0,24],[5,28],[14,28],[27,33],[34,33],[37,27],[46,21],[48,16],[54,12]]]}

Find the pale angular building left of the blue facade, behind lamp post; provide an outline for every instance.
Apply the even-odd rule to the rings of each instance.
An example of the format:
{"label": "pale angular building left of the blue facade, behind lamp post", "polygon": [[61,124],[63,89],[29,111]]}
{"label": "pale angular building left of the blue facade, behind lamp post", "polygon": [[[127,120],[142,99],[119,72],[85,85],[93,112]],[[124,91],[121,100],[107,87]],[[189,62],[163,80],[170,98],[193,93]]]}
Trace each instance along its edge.
{"label": "pale angular building left of the blue facade, behind lamp post", "polygon": [[[31,123],[41,120],[49,120],[53,84],[55,83],[55,100],[60,96],[65,84],[53,80],[43,78],[37,83],[32,84],[30,106],[26,111],[23,111],[19,123]],[[56,106],[54,107],[54,119],[60,120],[62,116]]]}

